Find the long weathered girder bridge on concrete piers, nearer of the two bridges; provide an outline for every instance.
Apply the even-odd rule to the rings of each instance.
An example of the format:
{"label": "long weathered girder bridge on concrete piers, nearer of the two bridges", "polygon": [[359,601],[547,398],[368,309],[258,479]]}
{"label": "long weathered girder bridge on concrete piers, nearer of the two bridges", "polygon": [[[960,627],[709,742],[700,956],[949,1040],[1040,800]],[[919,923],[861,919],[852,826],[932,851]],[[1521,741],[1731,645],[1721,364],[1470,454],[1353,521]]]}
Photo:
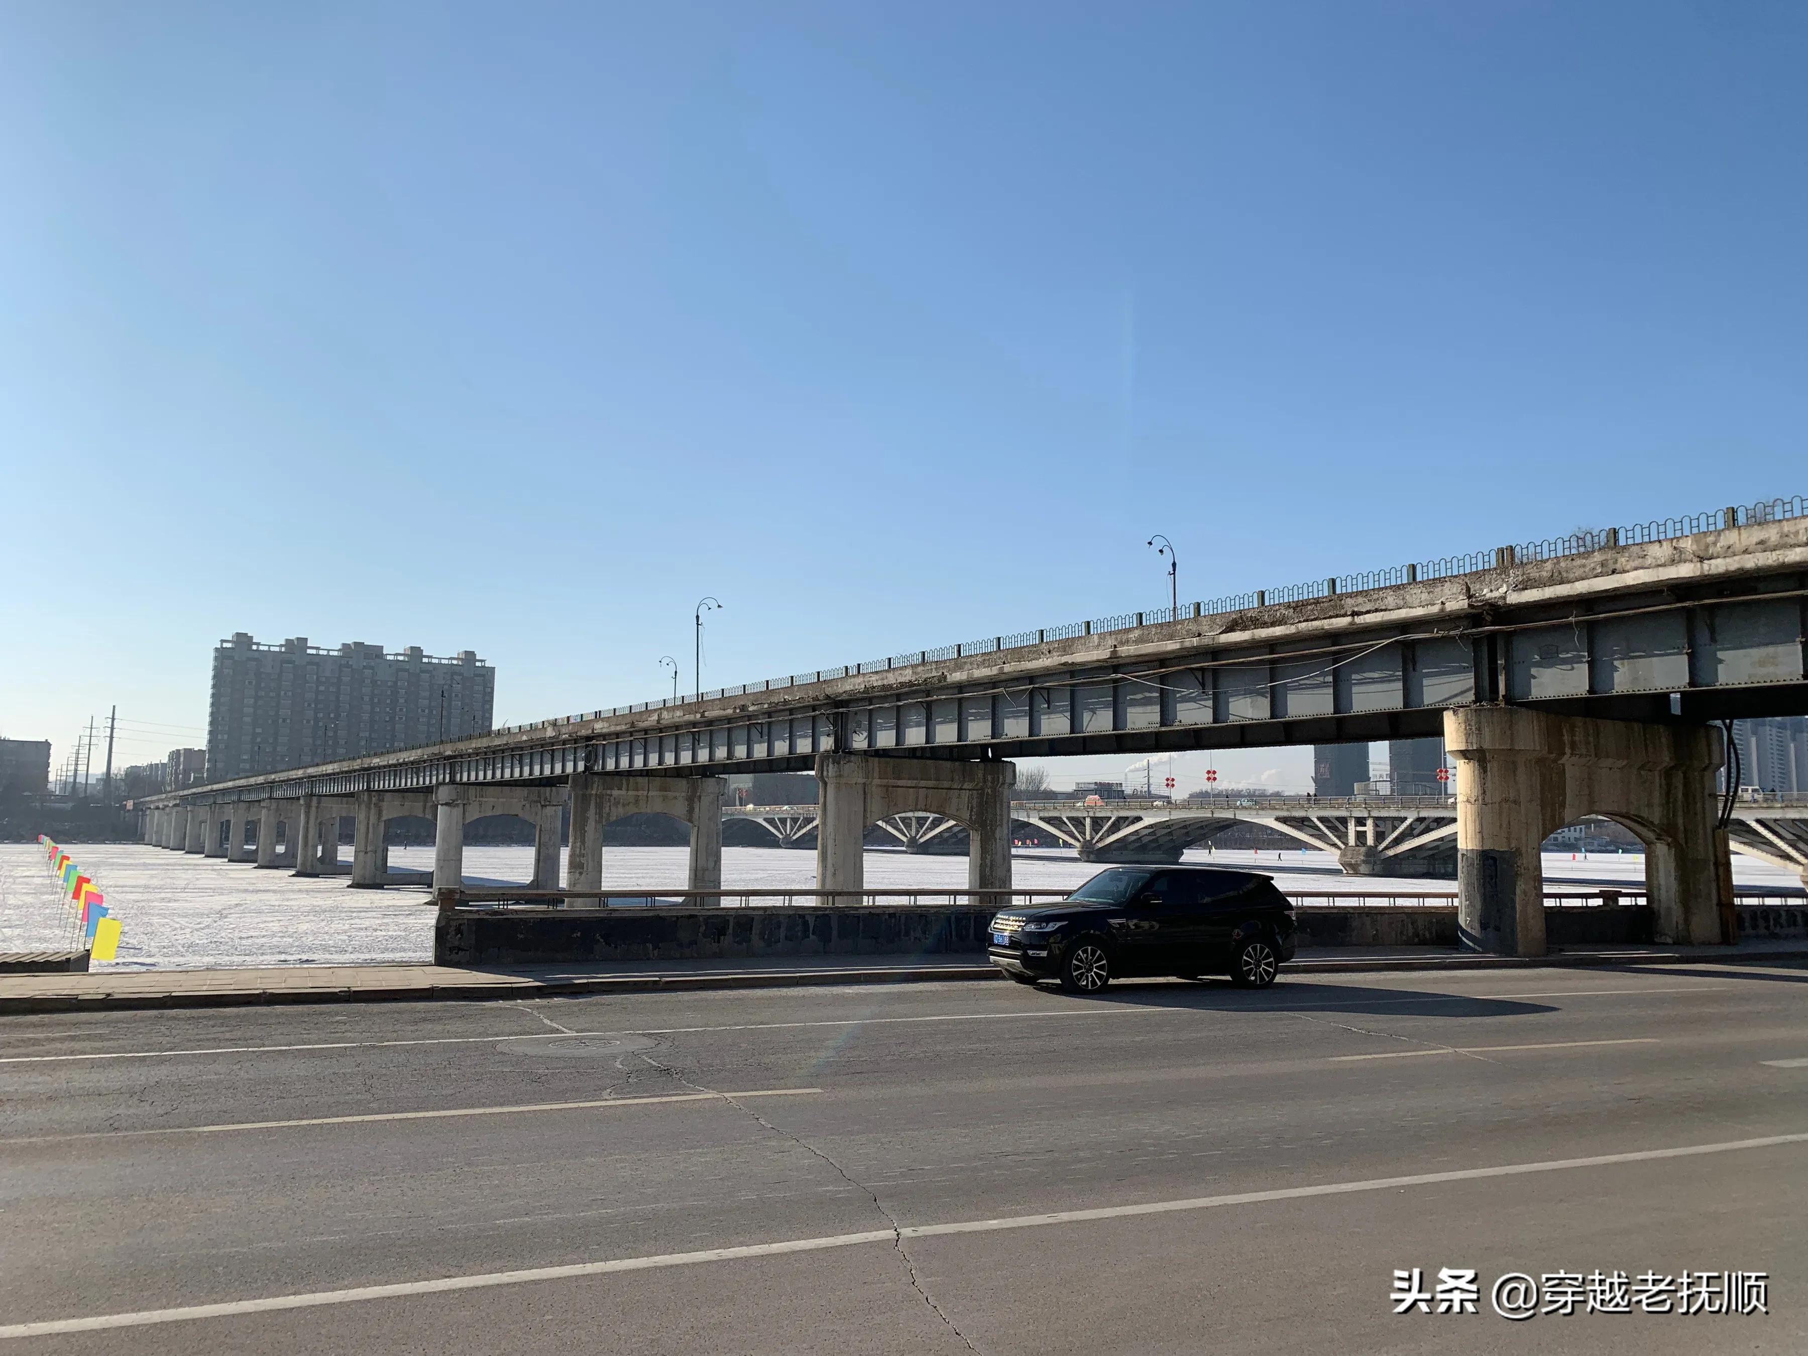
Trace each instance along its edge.
{"label": "long weathered girder bridge on concrete piers, nearer of the two bridges", "polygon": [[662,810],[692,824],[705,888],[721,774],[810,767],[823,888],[859,890],[866,826],[902,814],[962,823],[969,882],[1005,888],[1009,758],[1443,734],[1470,944],[1542,953],[1539,844],[1589,814],[1645,841],[1660,937],[1710,942],[1728,844],[1712,721],[1808,712],[1804,600],[1797,497],[240,777],[155,797],[148,832],[190,846],[199,814],[206,850],[208,806],[251,803],[320,870],[324,814],[381,824],[430,796],[434,880],[456,884],[472,817],[530,819],[548,862],[548,806],[570,797],[566,884],[598,882],[604,815]]}

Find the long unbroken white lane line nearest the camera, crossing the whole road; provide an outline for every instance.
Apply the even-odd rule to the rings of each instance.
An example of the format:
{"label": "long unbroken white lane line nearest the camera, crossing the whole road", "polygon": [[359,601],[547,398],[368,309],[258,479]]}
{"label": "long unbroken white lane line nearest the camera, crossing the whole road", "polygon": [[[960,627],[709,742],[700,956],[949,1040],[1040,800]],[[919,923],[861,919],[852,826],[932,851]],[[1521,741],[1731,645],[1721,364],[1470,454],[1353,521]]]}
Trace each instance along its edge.
{"label": "long unbroken white lane line nearest the camera, crossing the whole road", "polygon": [[[745,1096],[745,1094],[739,1094]],[[656,1271],[662,1267],[696,1266],[700,1262],[738,1262],[750,1257],[781,1257],[785,1253],[819,1253],[830,1248],[859,1248],[862,1244],[895,1244],[900,1238],[944,1238],[956,1233],[1002,1233],[1005,1229],[1036,1229],[1050,1224],[1087,1224],[1094,1220],[1134,1219],[1139,1215],[1175,1215],[1222,1206],[1253,1206],[1269,1201],[1302,1201],[1320,1195],[1352,1195],[1358,1191],[1396,1191],[1407,1186],[1434,1186],[1439,1182],[1472,1182],[1490,1177],[1522,1177],[1571,1168],[1607,1168],[1622,1163],[1658,1163],[1705,1154],[1736,1154],[1754,1148],[1777,1148],[1808,1143],[1808,1134],[1765,1135],[1763,1139],[1730,1139],[1718,1144],[1683,1144],[1678,1148],[1645,1148],[1629,1154],[1596,1154],[1586,1159],[1548,1159],[1542,1163],[1506,1163],[1495,1168],[1457,1168],[1452,1172],[1423,1172],[1410,1177],[1367,1177],[1354,1182],[1322,1182],[1318,1186],[1282,1186],[1269,1191],[1235,1191],[1229,1195],[1201,1195],[1182,1201],[1150,1201],[1137,1206],[1097,1206],[1092,1210],[1058,1210],[1045,1215],[1009,1215],[1003,1219],[955,1220],[949,1224],[909,1224],[897,1231],[868,1229],[864,1233],[830,1233],[817,1238],[786,1238],[781,1242],[741,1244],[738,1248],[705,1248],[696,1253],[658,1253],[654,1257],[622,1257],[607,1262],[575,1262],[570,1266],[528,1267],[523,1271],[488,1271],[466,1276],[438,1276],[434,1280],[405,1280],[389,1285],[358,1285],[342,1291],[311,1291],[302,1295],[271,1295],[262,1300],[226,1300],[222,1304],[192,1304],[179,1309],[139,1309],[123,1314],[96,1314],[92,1318],[49,1318],[34,1323],[0,1327],[0,1340],[42,1338],[60,1332],[98,1332],[110,1327],[150,1327],[154,1323],[183,1323],[195,1318],[230,1318],[237,1314],[264,1314],[282,1309],[315,1309],[362,1300],[394,1300],[409,1295],[443,1295],[447,1291],[474,1291],[494,1285],[526,1285],[539,1280],[573,1280],[579,1276],[606,1276],[622,1271]]]}

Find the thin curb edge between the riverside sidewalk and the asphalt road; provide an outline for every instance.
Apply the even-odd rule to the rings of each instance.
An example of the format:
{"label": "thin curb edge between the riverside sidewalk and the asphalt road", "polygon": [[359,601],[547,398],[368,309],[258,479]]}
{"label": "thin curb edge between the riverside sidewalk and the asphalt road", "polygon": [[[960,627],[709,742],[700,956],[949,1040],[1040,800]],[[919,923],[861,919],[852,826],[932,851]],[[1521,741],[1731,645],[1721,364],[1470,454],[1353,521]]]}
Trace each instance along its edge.
{"label": "thin curb edge between the riverside sidewalk and the asphalt road", "polygon": [[[1470,969],[1580,969],[1589,965],[1768,965],[1808,960],[1808,947],[1763,955],[1685,955],[1681,951],[1604,953],[1577,951],[1549,956],[1376,956],[1374,960],[1291,960],[1284,975],[1381,975],[1387,971]],[[428,984],[369,989],[215,989],[168,993],[47,993],[0,996],[7,1012],[130,1012],[175,1007],[295,1007],[307,1003],[430,1003],[495,1002],[519,998],[584,998],[613,993],[696,993],[709,989],[785,989],[835,984],[933,984],[937,980],[1000,980],[985,965],[880,965],[873,969],[743,971],[739,975],[622,975],[571,980],[519,980],[512,984]]]}

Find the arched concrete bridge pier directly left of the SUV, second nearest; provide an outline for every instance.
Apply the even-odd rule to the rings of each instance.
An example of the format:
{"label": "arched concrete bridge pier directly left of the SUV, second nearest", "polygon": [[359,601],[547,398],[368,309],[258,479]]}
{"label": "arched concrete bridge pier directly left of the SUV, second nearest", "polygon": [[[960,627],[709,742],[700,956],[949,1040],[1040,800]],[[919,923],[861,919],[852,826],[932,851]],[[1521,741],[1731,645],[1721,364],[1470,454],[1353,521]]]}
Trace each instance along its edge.
{"label": "arched concrete bridge pier directly left of the SUV, second nearest", "polygon": [[1011,888],[1016,763],[817,754],[815,777],[821,783],[817,890],[862,890],[866,826],[906,810],[928,810],[965,824],[969,890]]}

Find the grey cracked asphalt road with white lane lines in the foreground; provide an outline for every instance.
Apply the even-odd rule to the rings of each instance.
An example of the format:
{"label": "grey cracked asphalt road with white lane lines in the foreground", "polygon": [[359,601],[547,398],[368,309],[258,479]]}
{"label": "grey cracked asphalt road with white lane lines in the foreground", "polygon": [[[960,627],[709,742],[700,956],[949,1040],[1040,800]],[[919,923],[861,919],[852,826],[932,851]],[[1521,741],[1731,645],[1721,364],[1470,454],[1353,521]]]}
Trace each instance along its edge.
{"label": "grey cracked asphalt road with white lane lines in the foreground", "polygon": [[[1801,1352],[1804,1018],[1783,965],[9,1016],[0,1356]],[[1490,1304],[1596,1269],[1770,1313]]]}

